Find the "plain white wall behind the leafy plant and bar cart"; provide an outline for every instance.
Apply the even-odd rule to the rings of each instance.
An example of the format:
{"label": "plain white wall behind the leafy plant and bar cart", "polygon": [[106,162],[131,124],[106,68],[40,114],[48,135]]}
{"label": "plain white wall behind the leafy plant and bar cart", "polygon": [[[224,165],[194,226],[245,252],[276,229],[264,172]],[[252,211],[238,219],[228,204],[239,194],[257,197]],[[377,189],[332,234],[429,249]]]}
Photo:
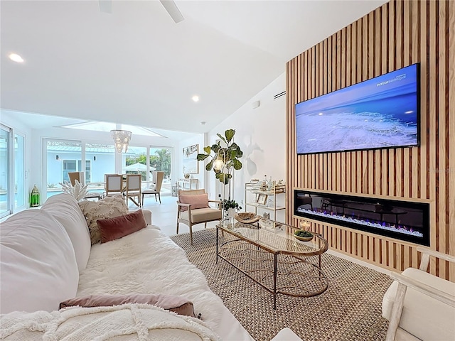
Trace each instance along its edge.
{"label": "plain white wall behind the leafy plant and bar cart", "polygon": [[[264,175],[272,176],[273,180],[286,178],[286,96],[274,100],[274,95],[285,89],[283,73],[207,134],[205,145],[211,145],[218,139],[217,133],[224,135],[226,129],[235,129],[234,140],[243,151],[240,159],[243,167],[233,173],[231,196],[237,202],[244,200],[245,182],[252,178],[262,180]],[[256,101],[260,101],[260,106],[252,109]],[[215,173],[208,175],[206,188],[215,193]]]}

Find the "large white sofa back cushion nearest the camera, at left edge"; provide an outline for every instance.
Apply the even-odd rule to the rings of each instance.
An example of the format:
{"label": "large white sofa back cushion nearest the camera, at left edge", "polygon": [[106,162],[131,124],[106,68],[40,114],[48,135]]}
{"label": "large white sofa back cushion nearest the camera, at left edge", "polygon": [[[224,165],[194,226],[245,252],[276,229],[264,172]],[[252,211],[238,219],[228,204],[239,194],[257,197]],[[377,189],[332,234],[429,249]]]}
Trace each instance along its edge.
{"label": "large white sofa back cushion nearest the camera, at left edge", "polygon": [[65,228],[45,210],[18,212],[0,229],[0,313],[58,309],[79,271]]}

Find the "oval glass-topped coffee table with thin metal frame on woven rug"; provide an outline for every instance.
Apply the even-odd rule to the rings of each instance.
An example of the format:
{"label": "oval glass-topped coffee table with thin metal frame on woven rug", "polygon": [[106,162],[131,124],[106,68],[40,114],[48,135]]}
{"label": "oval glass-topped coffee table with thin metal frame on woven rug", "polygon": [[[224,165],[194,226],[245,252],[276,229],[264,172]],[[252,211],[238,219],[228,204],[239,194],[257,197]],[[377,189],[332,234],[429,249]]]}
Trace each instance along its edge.
{"label": "oval glass-topped coffee table with thin metal frame on woven rug", "polygon": [[312,232],[310,242],[300,242],[294,237],[298,228],[271,220],[261,222],[220,220],[216,225],[217,264],[218,257],[224,259],[271,292],[274,309],[278,293],[310,297],[326,291],[328,281],[321,270],[321,254],[328,249],[326,239]]}

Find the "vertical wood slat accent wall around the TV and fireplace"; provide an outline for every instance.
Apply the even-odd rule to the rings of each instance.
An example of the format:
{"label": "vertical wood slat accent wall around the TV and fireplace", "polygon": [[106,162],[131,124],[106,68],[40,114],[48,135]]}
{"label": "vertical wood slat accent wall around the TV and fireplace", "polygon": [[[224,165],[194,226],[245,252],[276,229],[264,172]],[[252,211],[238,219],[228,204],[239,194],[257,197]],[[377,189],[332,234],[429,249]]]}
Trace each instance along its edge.
{"label": "vertical wood slat accent wall around the TV and fireplace", "polygon": [[[294,105],[420,63],[421,144],[296,155]],[[451,114],[450,114],[451,113]],[[430,200],[431,248],[455,254],[455,1],[392,0],[287,63],[287,184],[294,188]],[[287,197],[287,222],[293,195]],[[311,227],[331,249],[386,269],[417,267],[417,245],[336,225]],[[455,267],[429,271],[455,281]]]}

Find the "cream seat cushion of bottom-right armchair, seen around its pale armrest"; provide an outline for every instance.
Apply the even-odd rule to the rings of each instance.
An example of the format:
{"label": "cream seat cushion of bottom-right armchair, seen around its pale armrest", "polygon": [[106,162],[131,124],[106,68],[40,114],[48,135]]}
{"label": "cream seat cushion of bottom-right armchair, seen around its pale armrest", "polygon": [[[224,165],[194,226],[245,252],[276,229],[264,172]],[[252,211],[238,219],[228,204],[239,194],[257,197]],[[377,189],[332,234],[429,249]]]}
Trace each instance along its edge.
{"label": "cream seat cushion of bottom-right armchair, seen around its pale armrest", "polygon": [[[403,276],[454,295],[455,283],[419,269],[408,268]],[[390,320],[398,283],[394,281],[382,298],[382,317]],[[400,328],[421,340],[455,340],[455,308],[412,288],[407,288]]]}

